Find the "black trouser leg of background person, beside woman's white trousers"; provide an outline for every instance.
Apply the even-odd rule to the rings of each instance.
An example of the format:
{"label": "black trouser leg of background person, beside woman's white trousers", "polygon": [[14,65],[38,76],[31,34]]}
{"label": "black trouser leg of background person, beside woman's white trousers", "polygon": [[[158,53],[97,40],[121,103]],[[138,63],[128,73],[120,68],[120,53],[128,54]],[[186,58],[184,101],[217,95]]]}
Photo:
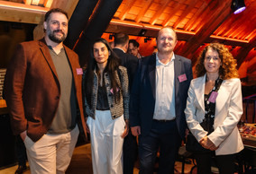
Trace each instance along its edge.
{"label": "black trouser leg of background person, beside woman's white trousers", "polygon": [[137,160],[138,146],[136,136],[131,130],[123,141],[123,174],[133,174],[134,163]]}

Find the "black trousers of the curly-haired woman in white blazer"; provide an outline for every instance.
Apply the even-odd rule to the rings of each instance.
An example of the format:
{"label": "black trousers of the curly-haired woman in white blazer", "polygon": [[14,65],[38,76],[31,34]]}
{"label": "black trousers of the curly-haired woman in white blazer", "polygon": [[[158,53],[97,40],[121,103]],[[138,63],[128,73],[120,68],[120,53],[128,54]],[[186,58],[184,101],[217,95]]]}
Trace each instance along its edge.
{"label": "black trousers of the curly-haired woman in white blazer", "polygon": [[236,154],[215,155],[215,152],[195,152],[197,161],[197,174],[211,174],[211,164],[213,157],[220,174],[233,174],[235,171]]}

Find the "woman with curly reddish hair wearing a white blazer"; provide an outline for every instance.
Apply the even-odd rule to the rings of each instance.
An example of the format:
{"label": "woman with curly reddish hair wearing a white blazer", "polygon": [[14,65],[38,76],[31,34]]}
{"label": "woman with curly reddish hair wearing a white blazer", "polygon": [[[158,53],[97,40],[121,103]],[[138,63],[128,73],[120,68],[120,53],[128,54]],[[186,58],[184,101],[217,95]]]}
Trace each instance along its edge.
{"label": "woman with curly reddish hair wearing a white blazer", "polygon": [[197,173],[210,174],[215,156],[219,172],[232,174],[235,154],[243,149],[237,128],[242,117],[242,90],[236,60],[224,45],[211,43],[198,57],[196,74],[185,114],[199,146],[194,151]]}

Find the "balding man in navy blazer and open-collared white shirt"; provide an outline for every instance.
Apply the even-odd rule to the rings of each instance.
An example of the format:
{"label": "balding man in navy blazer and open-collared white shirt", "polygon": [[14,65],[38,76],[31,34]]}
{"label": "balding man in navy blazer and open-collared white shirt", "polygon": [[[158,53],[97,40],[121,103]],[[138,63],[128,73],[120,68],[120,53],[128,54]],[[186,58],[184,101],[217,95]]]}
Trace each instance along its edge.
{"label": "balding man in navy blazer and open-collared white shirt", "polygon": [[175,155],[185,136],[184,109],[192,79],[191,61],[175,55],[176,32],[165,27],[157,36],[158,52],[142,58],[131,91],[130,125],[139,135],[140,174],[152,174],[160,149],[160,174],[174,173]]}

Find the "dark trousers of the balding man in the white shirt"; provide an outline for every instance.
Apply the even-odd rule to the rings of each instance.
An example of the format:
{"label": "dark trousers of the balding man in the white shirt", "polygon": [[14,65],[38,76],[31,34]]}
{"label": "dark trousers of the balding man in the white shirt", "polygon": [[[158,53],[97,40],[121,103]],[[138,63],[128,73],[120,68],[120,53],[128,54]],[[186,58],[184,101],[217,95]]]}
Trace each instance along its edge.
{"label": "dark trousers of the balding man in the white shirt", "polygon": [[151,132],[139,136],[140,174],[152,174],[157,152],[160,150],[159,174],[173,174],[181,138],[176,121],[153,120]]}

